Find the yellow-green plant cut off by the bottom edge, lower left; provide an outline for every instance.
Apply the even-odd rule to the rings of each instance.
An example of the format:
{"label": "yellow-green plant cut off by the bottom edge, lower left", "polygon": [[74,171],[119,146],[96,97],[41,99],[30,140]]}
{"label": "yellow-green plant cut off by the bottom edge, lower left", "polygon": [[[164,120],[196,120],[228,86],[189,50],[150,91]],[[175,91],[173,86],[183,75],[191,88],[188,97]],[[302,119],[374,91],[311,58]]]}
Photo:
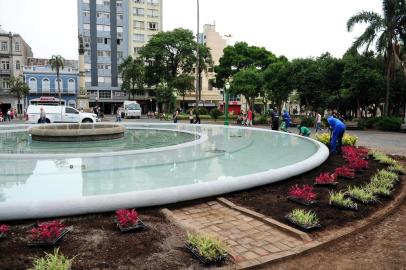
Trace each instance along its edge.
{"label": "yellow-green plant cut off by the bottom edge, lower left", "polygon": [[32,270],[68,270],[72,267],[74,258],[67,258],[59,253],[59,248],[54,249],[54,253],[45,253],[45,257],[37,258],[33,261]]}

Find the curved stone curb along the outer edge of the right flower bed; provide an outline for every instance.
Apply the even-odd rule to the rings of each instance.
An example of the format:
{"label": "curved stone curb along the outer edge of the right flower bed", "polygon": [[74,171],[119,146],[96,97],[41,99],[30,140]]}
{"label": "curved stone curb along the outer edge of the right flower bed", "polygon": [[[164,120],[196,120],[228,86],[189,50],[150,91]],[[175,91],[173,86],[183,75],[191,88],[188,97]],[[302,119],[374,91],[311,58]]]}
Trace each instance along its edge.
{"label": "curved stone curb along the outer edge of the right flower bed", "polygon": [[[321,237],[319,239],[313,240],[311,242],[308,242],[304,244],[303,246],[293,248],[288,251],[276,253],[269,255],[268,258],[263,258],[261,260],[262,262],[256,265],[251,265],[248,266],[244,269],[249,269],[249,268],[256,268],[259,266],[266,266],[270,265],[272,263],[280,262],[292,257],[297,257],[297,256],[302,256],[305,254],[308,254],[313,251],[317,251],[321,248],[325,248],[327,246],[333,245],[337,241],[344,239],[346,237],[349,237],[351,235],[366,231],[368,228],[371,226],[379,223],[380,221],[384,220],[386,217],[390,216],[396,209],[399,208],[399,206],[403,203],[403,201],[406,198],[406,176],[403,176],[402,179],[402,184],[401,184],[401,190],[400,193],[393,199],[392,202],[390,202],[389,205],[386,207],[382,208],[378,212],[375,212],[372,214],[370,217],[366,219],[362,219],[359,221],[356,221],[354,225],[348,228],[342,228],[334,232],[328,233],[325,237]],[[267,259],[267,260],[266,260]]]}

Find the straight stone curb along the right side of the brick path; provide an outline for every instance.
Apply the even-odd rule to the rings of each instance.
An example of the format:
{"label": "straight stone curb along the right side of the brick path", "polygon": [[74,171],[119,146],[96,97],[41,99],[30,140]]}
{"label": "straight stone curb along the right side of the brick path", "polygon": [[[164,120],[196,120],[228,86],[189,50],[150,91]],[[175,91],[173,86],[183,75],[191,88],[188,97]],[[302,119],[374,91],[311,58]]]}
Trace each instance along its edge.
{"label": "straight stone curb along the right side of the brick path", "polygon": [[277,220],[274,220],[274,219],[272,219],[270,217],[267,217],[267,216],[265,216],[263,214],[260,214],[258,212],[252,211],[252,210],[247,209],[245,207],[237,206],[233,202],[227,200],[226,198],[219,197],[219,198],[217,198],[217,201],[220,202],[221,204],[227,206],[227,207],[230,207],[233,210],[236,210],[238,212],[246,214],[246,215],[248,215],[248,216],[250,216],[252,218],[255,218],[255,219],[259,220],[259,221],[264,222],[267,225],[270,225],[270,226],[272,226],[272,227],[274,227],[276,229],[279,229],[279,230],[281,230],[281,231],[283,231],[283,232],[285,232],[285,233],[287,233],[287,234],[289,234],[291,236],[294,236],[294,237],[298,238],[299,240],[303,240],[305,242],[312,241],[312,238],[307,233],[304,233],[304,232],[299,231],[299,230],[297,230],[295,228],[287,226],[287,225],[285,225],[285,224],[283,224],[283,223],[281,223],[281,222],[279,222]]}

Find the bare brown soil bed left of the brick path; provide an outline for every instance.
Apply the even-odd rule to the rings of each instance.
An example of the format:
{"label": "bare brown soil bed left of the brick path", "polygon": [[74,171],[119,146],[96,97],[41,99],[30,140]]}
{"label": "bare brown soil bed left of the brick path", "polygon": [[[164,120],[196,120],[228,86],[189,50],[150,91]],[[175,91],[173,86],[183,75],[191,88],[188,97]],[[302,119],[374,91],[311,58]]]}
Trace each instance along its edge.
{"label": "bare brown soil bed left of the brick path", "polygon": [[[72,230],[56,246],[65,256],[76,256],[72,269],[206,269],[185,248],[183,230],[158,210],[139,214],[148,227],[134,233],[121,233],[114,213],[61,218]],[[44,251],[53,253],[53,247],[27,246],[26,232],[37,222],[7,223],[10,232],[0,240],[0,269],[27,269]]]}

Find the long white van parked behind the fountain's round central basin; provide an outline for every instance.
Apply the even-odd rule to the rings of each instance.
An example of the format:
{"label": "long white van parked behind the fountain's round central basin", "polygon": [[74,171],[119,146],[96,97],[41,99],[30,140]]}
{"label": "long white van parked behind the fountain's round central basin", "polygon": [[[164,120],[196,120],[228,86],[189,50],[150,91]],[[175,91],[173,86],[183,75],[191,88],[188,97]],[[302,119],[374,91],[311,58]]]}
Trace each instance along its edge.
{"label": "long white van parked behind the fountain's round central basin", "polygon": [[41,108],[45,112],[47,123],[96,123],[99,121],[96,114],[82,113],[69,106],[29,105],[27,123],[39,123]]}

